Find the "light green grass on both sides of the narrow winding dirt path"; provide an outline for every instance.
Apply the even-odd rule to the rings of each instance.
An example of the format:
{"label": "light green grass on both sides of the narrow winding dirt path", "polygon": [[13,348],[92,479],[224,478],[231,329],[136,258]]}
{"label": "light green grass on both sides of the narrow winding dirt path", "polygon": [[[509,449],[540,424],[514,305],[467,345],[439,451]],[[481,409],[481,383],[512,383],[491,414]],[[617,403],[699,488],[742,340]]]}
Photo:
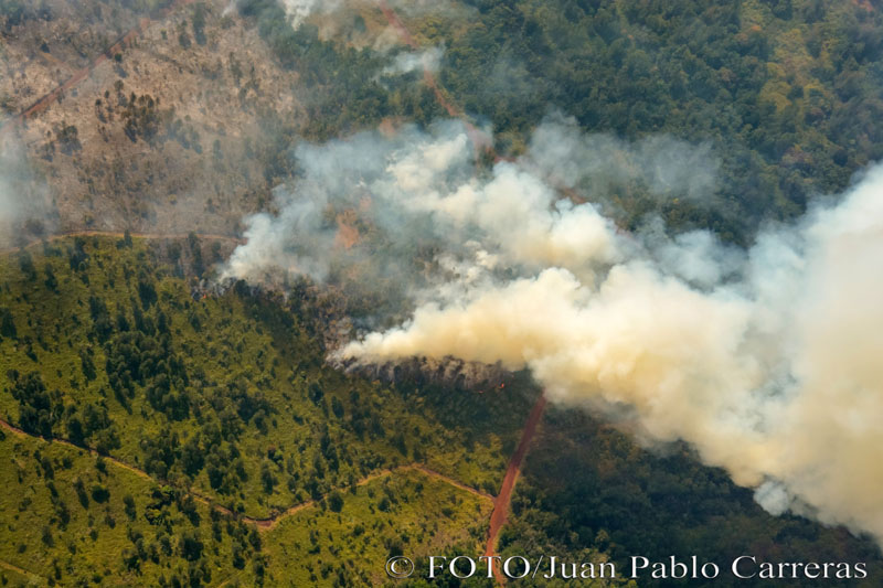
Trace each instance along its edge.
{"label": "light green grass on both sides of the narrow winding dirt path", "polygon": [[[61,398],[62,416],[53,425],[53,436],[68,436],[66,410],[82,414],[93,405],[107,410],[118,435],[119,447],[109,455],[132,468],[150,469],[150,443],[178,438],[179,446],[164,475],[152,472],[145,478],[110,460],[104,460],[106,473],[102,473],[95,456],[83,449],[7,431],[0,445],[0,481],[11,491],[0,502],[0,560],[62,586],[77,581],[156,586],[162,578],[171,585],[172,576],[188,581],[193,568],[209,573],[210,579],[203,577],[201,585],[252,586],[263,578],[267,586],[333,585],[336,580],[358,586],[385,579],[383,563],[395,548],[417,556],[433,549],[481,550],[490,500],[401,467],[424,463],[496,493],[535,394],[530,383],[515,382],[506,393],[476,394],[442,385],[391,386],[343,374],[325,363],[321,334],[310,334],[316,333],[308,325],[312,317],[289,310],[279,297],[231,289],[194,300],[191,281],[175,277],[168,260],[170,242],[135,239],[127,248],[118,247],[115,238],[88,237],[83,244],[89,259],[81,269],[70,267],[72,238],[29,247],[34,279],[22,272],[19,254],[0,256],[0,308],[11,311],[17,331],[15,336],[0,339],[0,416],[21,425],[22,406],[12,396],[11,371],[38,372],[46,389],[58,391]],[[181,247],[187,249],[187,243]],[[57,282],[54,290],[45,284],[47,266]],[[157,302],[149,308],[140,301],[139,274],[157,292]],[[105,370],[106,350],[111,348],[96,335],[91,297],[106,304],[114,321],[121,312],[132,331],[136,311],[155,323],[160,311],[168,318],[170,355],[162,361],[178,357],[183,364],[188,382],[175,383],[172,389],[190,400],[185,418],[175,420],[155,409],[147,386],[135,386],[125,403],[128,408],[119,402]],[[108,342],[116,344],[120,336],[114,327]],[[151,341],[160,341],[159,336]],[[96,372],[92,381],[84,372],[81,350],[91,350]],[[246,423],[230,405],[225,391],[235,383],[247,398],[265,400],[263,426],[256,416]],[[318,402],[310,398],[316,386],[323,393]],[[363,415],[361,427],[357,414]],[[225,419],[238,425],[238,436],[222,435],[217,445],[209,442],[212,428]],[[185,473],[182,447],[195,435],[203,436],[203,456],[216,447],[234,451],[244,479],[224,490],[212,488],[205,466],[192,475]],[[85,439],[88,447],[97,442],[98,434]],[[53,464],[50,481],[55,499],[38,450],[41,459]],[[337,469],[331,466],[333,456]],[[323,471],[316,470],[317,463]],[[358,485],[366,477],[390,470]],[[264,471],[276,481],[269,492]],[[87,493],[96,483],[106,487],[108,501],[99,504],[89,496],[88,507],[83,507],[73,485],[76,479]],[[174,502],[164,509],[168,522],[152,524],[146,517],[147,506],[156,502],[152,493],[161,484],[182,496],[205,496],[254,518],[319,500],[262,533],[258,549],[249,539],[253,525],[215,513],[220,520],[213,530],[212,511],[201,502],[192,506],[199,515],[196,524]],[[344,499],[340,513],[327,505],[333,491]],[[136,503],[131,521],[123,502],[127,494]],[[387,511],[379,509],[383,496],[390,501]],[[70,512],[66,526],[60,524],[54,505],[58,501]],[[357,535],[357,525],[364,533]],[[44,527],[51,535],[46,541]],[[153,562],[149,554],[151,545],[159,545],[160,527],[171,537],[172,549]],[[310,531],[318,533],[318,550]],[[188,533],[198,533],[204,545],[202,557],[194,562],[183,557],[179,545]],[[139,571],[130,570],[125,558],[134,562],[131,556],[139,548],[142,557],[135,558]],[[242,555],[238,567],[233,564],[234,550]],[[343,574],[340,578],[338,570]],[[12,574],[7,574],[10,581],[22,581]]]}

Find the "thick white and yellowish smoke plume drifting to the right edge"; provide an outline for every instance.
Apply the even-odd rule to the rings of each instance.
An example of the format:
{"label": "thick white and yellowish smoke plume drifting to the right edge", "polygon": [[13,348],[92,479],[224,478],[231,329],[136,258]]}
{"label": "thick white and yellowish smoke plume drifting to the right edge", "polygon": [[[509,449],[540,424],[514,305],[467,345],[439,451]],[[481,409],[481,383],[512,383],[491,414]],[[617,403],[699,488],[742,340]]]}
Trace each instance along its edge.
{"label": "thick white and yellowish smoke plume drifting to the right edge", "polygon": [[[773,513],[883,539],[883,167],[741,250],[703,232],[621,233],[551,185],[588,201],[621,182],[709,195],[708,149],[671,138],[626,145],[551,121],[522,160],[480,177],[453,122],[296,156],[302,180],[277,192],[278,215],[248,221],[225,274],[397,271],[409,317],[339,360],[528,367],[554,402],[690,442]],[[364,222],[349,248],[329,222],[344,207]],[[433,263],[413,266],[426,244]]]}

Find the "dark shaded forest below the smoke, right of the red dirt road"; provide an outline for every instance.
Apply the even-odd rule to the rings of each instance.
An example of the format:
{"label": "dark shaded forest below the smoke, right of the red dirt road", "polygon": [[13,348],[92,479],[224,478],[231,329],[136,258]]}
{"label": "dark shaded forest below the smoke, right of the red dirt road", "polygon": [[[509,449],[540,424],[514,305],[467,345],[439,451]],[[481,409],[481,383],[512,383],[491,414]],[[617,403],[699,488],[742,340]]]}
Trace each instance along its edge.
{"label": "dark shaded forest below the smoke, right of the red dirt road", "polygon": [[[699,555],[724,570],[709,586],[781,586],[738,580],[730,563],[745,554],[766,562],[865,562],[865,580],[830,586],[880,586],[883,558],[870,538],[792,515],[772,516],[723,471],[700,464],[685,447],[648,452],[631,438],[583,413],[550,409],[512,499],[513,516],[500,553],[546,553],[570,560],[629,557],[652,560]],[[566,554],[566,555],[565,555]],[[806,581],[806,580],[797,580]],[[701,581],[640,586],[701,586]],[[542,586],[542,585],[541,585]],[[550,586],[558,586],[550,584]]]}

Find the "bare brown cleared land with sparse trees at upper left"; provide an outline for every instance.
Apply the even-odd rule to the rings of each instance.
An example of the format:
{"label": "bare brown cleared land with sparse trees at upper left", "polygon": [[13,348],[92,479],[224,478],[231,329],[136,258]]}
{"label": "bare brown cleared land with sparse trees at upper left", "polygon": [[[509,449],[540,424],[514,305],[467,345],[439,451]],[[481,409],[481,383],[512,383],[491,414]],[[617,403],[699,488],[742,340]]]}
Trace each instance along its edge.
{"label": "bare brown cleared land with sparse trees at upper left", "polygon": [[[29,154],[34,183],[45,186],[45,229],[238,234],[244,216],[266,209],[284,181],[268,172],[287,158],[278,133],[306,120],[302,88],[253,23],[224,14],[227,3],[199,3],[203,44],[193,0],[130,15],[100,50],[97,41],[86,47],[88,58],[40,51],[45,34],[29,33],[40,23],[0,39],[0,66],[13,74],[0,76],[0,106],[19,110],[0,132]],[[60,13],[52,26],[75,29],[83,19]]]}

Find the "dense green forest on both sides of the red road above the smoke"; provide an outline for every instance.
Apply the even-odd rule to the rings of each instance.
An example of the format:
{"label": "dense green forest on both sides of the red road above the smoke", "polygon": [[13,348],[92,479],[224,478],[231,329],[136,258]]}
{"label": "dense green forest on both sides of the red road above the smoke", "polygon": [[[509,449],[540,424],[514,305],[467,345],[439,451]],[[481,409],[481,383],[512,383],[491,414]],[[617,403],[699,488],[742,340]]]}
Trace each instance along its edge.
{"label": "dense green forest on both sides of the red road above the smoke", "polygon": [[[498,150],[519,154],[552,111],[587,132],[670,133],[710,142],[725,206],[623,194],[621,222],[648,212],[675,229],[710,227],[746,243],[763,220],[792,218],[883,157],[883,11],[836,0],[685,2],[468,0],[406,25],[444,46],[439,82]],[[278,60],[322,88],[306,137],[370,128],[384,117],[443,116],[418,77],[384,82],[389,57],[315,26],[292,30],[270,0],[244,0]],[[357,17],[358,18],[358,17]]]}

